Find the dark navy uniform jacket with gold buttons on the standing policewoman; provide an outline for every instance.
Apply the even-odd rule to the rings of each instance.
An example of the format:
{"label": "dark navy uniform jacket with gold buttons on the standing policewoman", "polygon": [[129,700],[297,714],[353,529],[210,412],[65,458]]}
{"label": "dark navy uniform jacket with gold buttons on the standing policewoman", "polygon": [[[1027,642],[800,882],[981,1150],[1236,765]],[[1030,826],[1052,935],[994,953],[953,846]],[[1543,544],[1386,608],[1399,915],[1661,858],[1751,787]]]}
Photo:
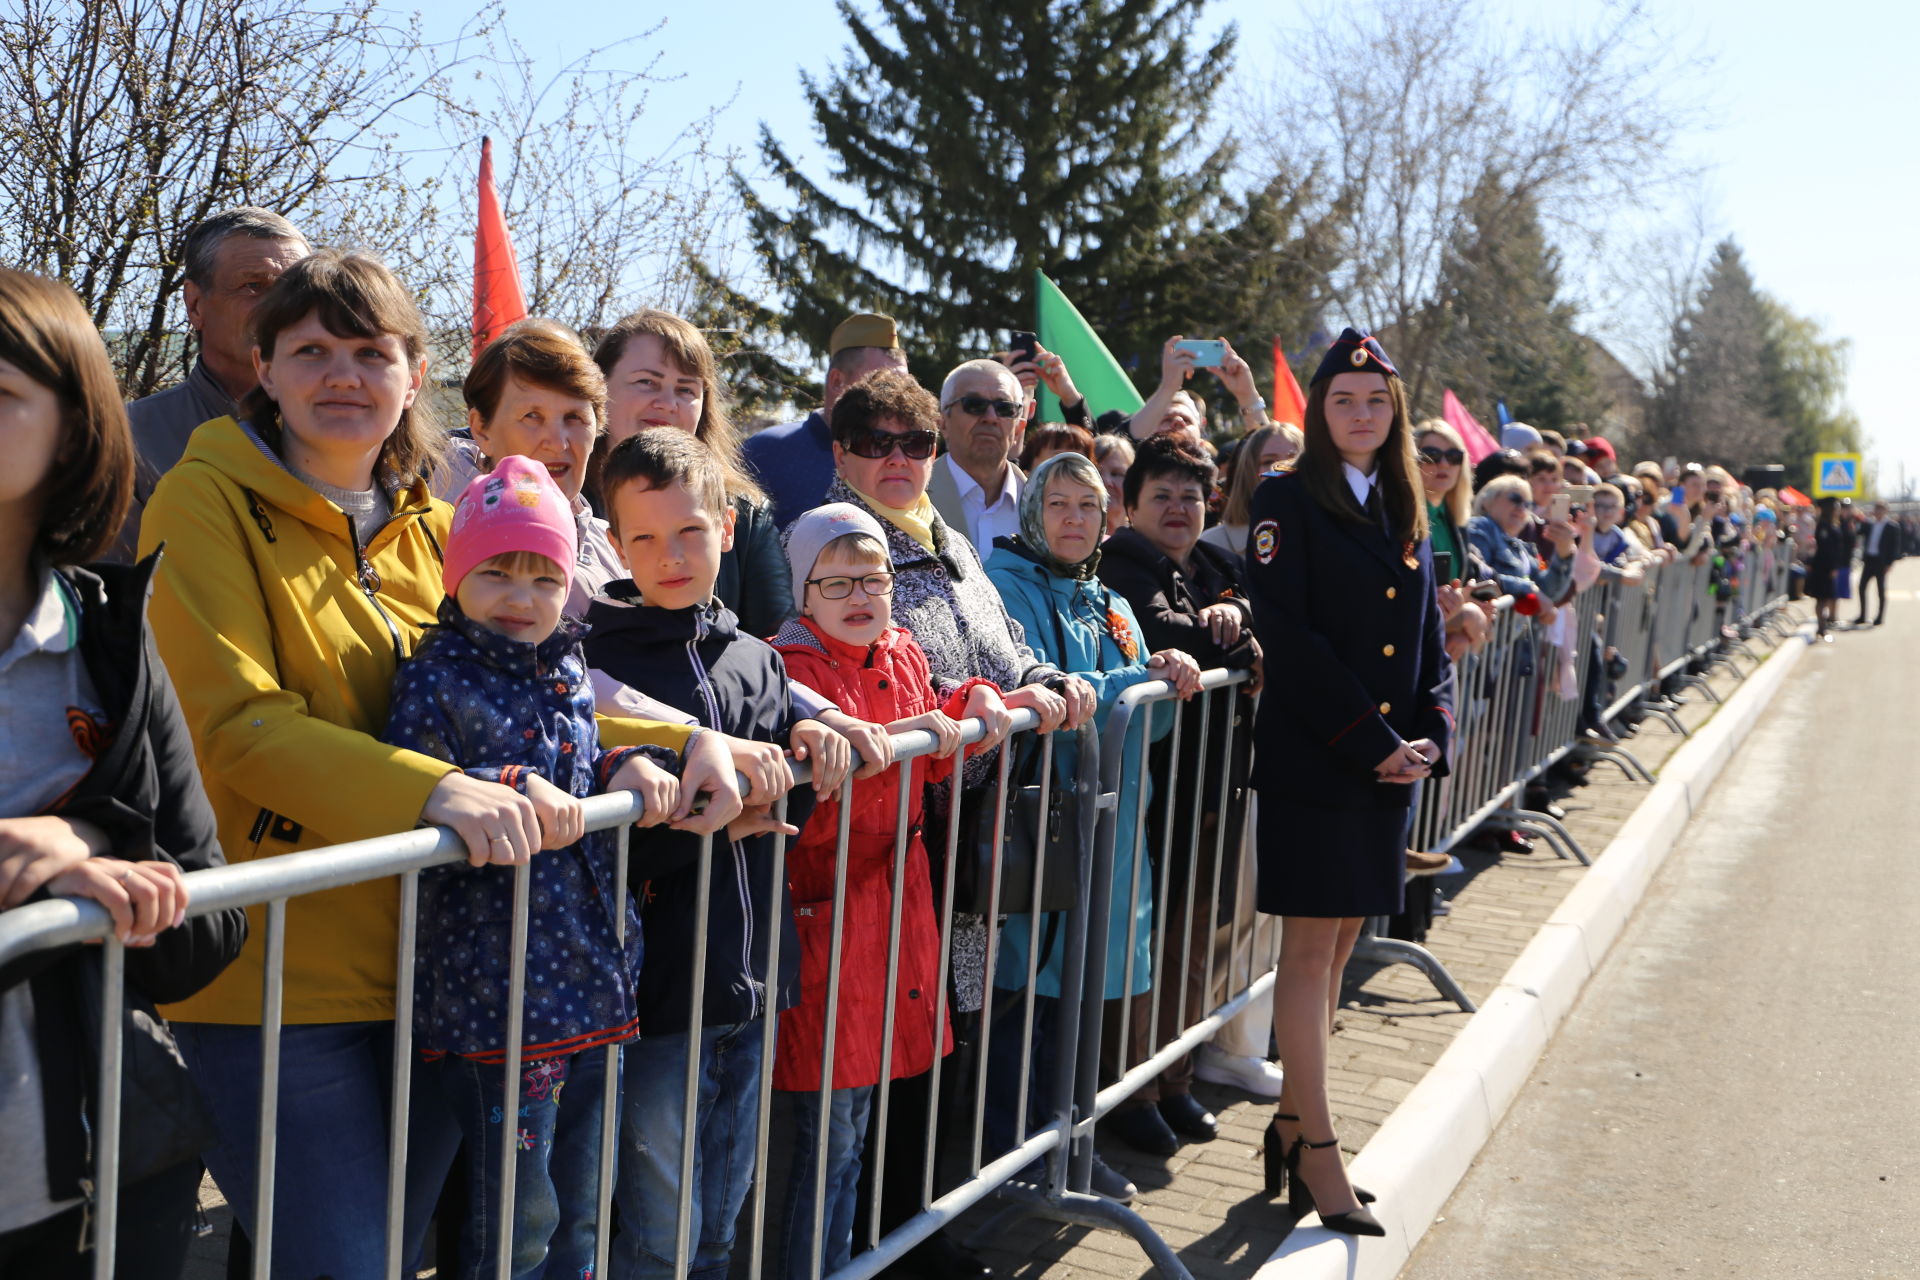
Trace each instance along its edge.
{"label": "dark navy uniform jacket with gold buttons on the standing policewoman", "polygon": [[1321,507],[1298,472],[1254,491],[1246,589],[1273,689],[1254,725],[1254,787],[1317,808],[1394,808],[1413,787],[1373,770],[1432,739],[1446,773],[1453,664],[1434,601],[1432,549],[1407,564],[1386,532]]}

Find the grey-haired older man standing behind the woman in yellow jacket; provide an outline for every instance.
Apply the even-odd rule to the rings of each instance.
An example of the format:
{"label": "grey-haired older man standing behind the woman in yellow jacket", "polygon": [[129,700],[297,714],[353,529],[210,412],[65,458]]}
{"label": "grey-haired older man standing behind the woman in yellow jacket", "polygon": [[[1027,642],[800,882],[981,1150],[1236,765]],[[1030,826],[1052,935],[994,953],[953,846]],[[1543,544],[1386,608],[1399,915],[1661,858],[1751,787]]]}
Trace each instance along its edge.
{"label": "grey-haired older man standing behind the woman in yellow jacket", "polygon": [[252,205],[198,223],[186,232],[184,248],[180,297],[186,322],[200,334],[200,353],[184,382],[127,405],[140,461],[132,509],[115,547],[115,557],[123,560],[132,558],[140,539],[146,499],[186,453],[186,438],[202,422],[236,415],[253,390],[253,303],[309,253],[300,228],[278,213]]}

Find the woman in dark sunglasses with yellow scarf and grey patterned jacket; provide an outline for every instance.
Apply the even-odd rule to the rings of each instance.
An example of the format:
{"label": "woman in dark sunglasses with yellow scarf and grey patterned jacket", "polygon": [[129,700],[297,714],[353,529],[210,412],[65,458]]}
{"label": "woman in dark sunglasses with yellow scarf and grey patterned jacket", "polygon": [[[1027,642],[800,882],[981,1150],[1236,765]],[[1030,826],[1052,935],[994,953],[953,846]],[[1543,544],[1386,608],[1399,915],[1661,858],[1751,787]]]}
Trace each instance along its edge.
{"label": "woman in dark sunglasses with yellow scarf and grey patterned jacket", "polygon": [[[833,432],[833,484],[828,503],[851,503],[879,520],[893,562],[893,622],[927,654],[935,693],[947,699],[968,681],[991,681],[1010,691],[989,699],[981,718],[989,725],[985,747],[1006,735],[1008,710],[1031,708],[1041,729],[1077,729],[1096,704],[1085,679],[1043,662],[1027,647],[987,578],[979,555],[964,533],[947,526],[927,497],[933,455],[941,434],[939,401],[904,370],[881,370],[847,388],[829,415]],[[975,693],[975,697],[985,697]],[[1004,706],[1004,710],[1002,710]],[[998,771],[998,750],[975,748],[962,770],[962,787],[985,791]],[[947,829],[948,791],[927,794],[927,831]],[[937,904],[939,906],[939,904]],[[979,915],[954,915],[952,925],[952,1019],[954,1040],[977,1032],[987,986],[987,925]],[[897,1080],[891,1090],[887,1128],[887,1186],[881,1196],[881,1228],[891,1230],[920,1211],[920,1171],[935,1153],[925,1148],[927,1107],[962,1117],[964,1132],[972,1094],[960,1090],[960,1071],[941,1077],[941,1100],[925,1084]],[[918,1090],[918,1092],[916,1092]],[[943,1130],[943,1144],[945,1144]],[[877,1134],[874,1136],[877,1142]],[[876,1159],[864,1161],[868,1169]],[[970,1259],[947,1236],[933,1236],[908,1253],[914,1270],[960,1274]]]}

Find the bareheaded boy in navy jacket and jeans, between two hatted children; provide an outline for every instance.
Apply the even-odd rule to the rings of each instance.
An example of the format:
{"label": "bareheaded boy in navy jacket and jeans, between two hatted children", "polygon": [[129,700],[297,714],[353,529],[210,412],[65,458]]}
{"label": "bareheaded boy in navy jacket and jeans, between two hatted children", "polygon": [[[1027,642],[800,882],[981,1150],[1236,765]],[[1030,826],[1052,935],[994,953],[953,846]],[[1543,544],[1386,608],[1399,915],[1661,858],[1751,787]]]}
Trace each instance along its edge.
{"label": "bareheaded boy in navy jacket and jeans, between two hatted children", "polygon": [[[687,432],[651,430],[624,439],[601,474],[614,549],[630,580],[588,606],[588,664],[649,699],[687,712],[707,729],[785,745],[797,716],[787,670],[770,645],[739,631],[714,581],[732,543],[733,509],[712,451]],[[639,1040],[624,1050],[620,1117],[622,1234],[618,1280],[674,1274],[680,1148],[685,1134],[687,1055],[699,1054],[701,1107],[689,1224],[691,1280],[724,1280],[733,1221],[753,1182],[764,1017],[797,1000],[799,940],[783,881],[774,881],[776,833],[797,835],[812,791],[789,798],[783,825],[772,802],[785,783],[762,785],[710,858],[701,1036],[691,1042],[701,841],[649,839],[630,862],[647,931],[637,994]],[[780,971],[768,973],[780,931]]]}

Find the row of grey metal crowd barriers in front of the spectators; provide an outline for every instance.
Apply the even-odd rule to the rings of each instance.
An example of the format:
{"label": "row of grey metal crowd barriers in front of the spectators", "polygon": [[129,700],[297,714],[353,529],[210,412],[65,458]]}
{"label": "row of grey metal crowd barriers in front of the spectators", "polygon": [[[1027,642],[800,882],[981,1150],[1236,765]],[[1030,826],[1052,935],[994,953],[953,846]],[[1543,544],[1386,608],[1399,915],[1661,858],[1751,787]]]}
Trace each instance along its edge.
{"label": "row of grey metal crowd barriers in front of the spectators", "polygon": [[[1603,699],[1609,716],[1622,708],[1663,706],[1663,681],[1684,677],[1690,662],[1711,654],[1722,628],[1766,633],[1768,620],[1786,595],[1786,555],[1753,553],[1741,566],[1738,585],[1724,610],[1711,591],[1711,566],[1659,566],[1642,581],[1601,581],[1580,593],[1563,610],[1563,620],[1542,626],[1519,616],[1511,601],[1494,614],[1492,637],[1476,652],[1455,664],[1455,743],[1452,771],[1423,785],[1415,810],[1415,842],[1448,850],[1482,825],[1511,825],[1546,835],[1563,856],[1584,860],[1584,852],[1551,816],[1526,810],[1526,785],[1574,750],[1607,750],[1582,737],[1580,708],[1588,697],[1594,662],[1607,654],[1624,660],[1613,697]],[[1705,622],[1701,622],[1705,618]],[[883,875],[889,887],[885,921],[885,1002],[877,1027],[879,1073],[874,1088],[864,1144],[864,1186],[860,1190],[862,1226],[852,1240],[852,1259],[826,1267],[829,1190],[820,1176],[828,1157],[835,1063],[849,1036],[868,1036],[876,1029],[826,1019],[818,1090],[793,1092],[776,1102],[774,1057],[778,1017],[766,1015],[753,1032],[760,1040],[755,1096],[755,1169],[747,1205],[741,1213],[745,1272],[758,1280],[768,1267],[781,1268],[776,1244],[795,1232],[791,1217],[803,1215],[797,1240],[806,1257],[785,1268],[797,1280],[870,1280],[899,1261],[933,1232],[954,1224],[989,1196],[1012,1217],[1041,1215],[1066,1222],[1123,1230],[1146,1251],[1154,1267],[1187,1280],[1179,1257],[1144,1219],[1091,1194],[1092,1132],[1098,1119],[1135,1098],[1179,1059],[1212,1038],[1229,1019],[1254,1002],[1271,998],[1273,963],[1279,950],[1277,923],[1254,912],[1252,796],[1246,766],[1252,745],[1252,700],[1246,672],[1206,672],[1202,693],[1181,702],[1165,681],[1127,689],[1106,716],[1104,729],[1083,727],[1077,735],[1043,735],[1037,806],[1018,812],[1058,812],[1056,789],[1071,789],[1073,831],[1031,841],[1033,864],[1014,885],[1004,864],[995,858],[985,869],[991,910],[962,913],[956,904],[956,875],[968,858],[970,829],[962,816],[964,796],[991,794],[987,818],[993,846],[1004,850],[1012,747],[1031,737],[1033,712],[1016,712],[1016,731],[1000,748],[993,779],[968,787],[964,770],[941,785],[945,802],[927,810],[939,818],[925,848],[939,933],[939,971],[931,992],[931,1067],[912,1080],[893,1079],[895,1029],[900,1015],[900,958],[910,921],[904,919],[906,885],[914,873],[910,860],[920,835],[910,825],[908,791],[899,787],[899,810]],[[1284,697],[1284,687],[1267,697]],[[966,741],[981,735],[979,722],[966,723]],[[1056,770],[1052,752],[1075,752],[1071,770]],[[893,766],[900,781],[914,760],[931,754],[929,733],[895,737]],[[1624,766],[1622,766],[1624,768]],[[806,770],[797,768],[797,785]],[[849,979],[845,910],[849,877],[856,871],[849,816],[852,783],[841,796],[841,825],[833,867],[829,913],[833,929],[826,940],[824,1000],[839,1009]],[[1031,800],[1031,796],[1029,796]],[[781,798],[781,812],[785,798]],[[1210,818],[1212,816],[1212,818]],[[630,793],[595,796],[586,802],[589,829],[616,831],[616,885],[624,917],[630,842],[647,839],[632,823],[639,818]],[[931,825],[931,823],[929,823]],[[1123,839],[1125,833],[1127,839]],[[766,975],[778,979],[781,967],[781,913],[791,910],[781,889],[787,883],[787,841],[776,842],[776,858],[760,902],[764,904],[768,960]],[[872,852],[872,850],[868,850]],[[1048,856],[1073,864],[1068,898],[1060,910],[1014,910],[1043,902],[1048,883]],[[712,896],[712,841],[705,841],[697,864],[695,915],[707,919]],[[265,906],[259,946],[265,956],[261,990],[263,1088],[259,1103],[259,1197],[250,1207],[253,1222],[253,1274],[265,1278],[273,1259],[275,1155],[278,1115],[278,1031],[282,1009],[282,963],[286,942],[286,902],[300,894],[342,885],[396,877],[399,900],[396,1055],[392,1063],[394,1109],[390,1134],[386,1274],[405,1274],[409,1224],[403,1221],[403,1171],[407,1163],[409,1077],[413,1071],[413,954],[419,944],[415,910],[419,877],[424,869],[465,860],[465,846],[445,829],[420,829],[324,850],[286,854],[269,860],[198,871],[186,877],[192,890],[190,913],[200,915],[234,906]],[[528,927],[530,869],[515,869],[511,933],[513,1025],[507,1032],[507,1115],[518,1109],[520,1086],[520,1007],[524,1004],[524,961]],[[1116,910],[1116,898],[1121,908]],[[1002,923],[1004,919],[1004,923]],[[1116,925],[1119,940],[1116,946]],[[94,1274],[113,1274],[113,1228],[119,1211],[119,1132],[121,1132],[121,1011],[125,1004],[125,952],[111,936],[109,917],[90,902],[54,900],[17,908],[0,915],[0,963],[29,952],[102,942],[102,1057],[104,1088],[94,1117],[98,1171],[94,1184]],[[1405,942],[1375,938],[1390,960],[1421,963],[1448,998],[1467,1006],[1465,994],[1446,977],[1444,967]],[[705,1021],[707,929],[695,931],[691,965],[691,1031],[684,1063],[684,1115],[699,1111],[701,1029]],[[1043,954],[1044,952],[1044,954]],[[970,956],[966,973],[952,965]],[[1012,960],[1008,960],[1012,956]],[[1144,956],[1144,960],[1142,960]],[[818,967],[818,948],[814,956]],[[860,961],[866,963],[866,961]],[[1146,973],[1140,973],[1144,965]],[[1106,1000],[1110,971],[1119,973],[1121,998]],[[806,979],[803,979],[804,983]],[[1004,986],[1002,986],[1004,983]],[[1050,986],[1048,992],[1041,988]],[[1135,988],[1144,988],[1135,994]],[[1085,994],[1085,998],[1083,998]],[[1469,1006],[1471,1007],[1471,1006]],[[1108,1025],[1112,1019],[1112,1027]],[[1144,1023],[1144,1032],[1142,1032]],[[943,1029],[950,1025],[956,1054],[945,1057]],[[998,1048],[996,1048],[998,1040]],[[1014,1048],[1018,1044],[1018,1048]],[[1112,1052],[1102,1055],[1102,1044]],[[872,1046],[870,1046],[872,1048]],[[612,1186],[620,1150],[620,1061],[622,1046],[589,1050],[605,1055],[603,1123],[599,1134],[599,1213],[597,1274],[607,1270],[612,1234]],[[996,1067],[1000,1063],[1000,1067]],[[1008,1065],[1010,1063],[1010,1065]],[[812,1107],[816,1134],[810,1150],[776,1144],[774,1128],[793,1107]],[[780,1115],[776,1115],[780,1111]],[[676,1207],[674,1272],[685,1276],[697,1240],[691,1236],[691,1197],[695,1171],[695,1126],[682,1125],[678,1150],[680,1196]],[[515,1184],[513,1144],[509,1150],[474,1153],[472,1159],[499,1159],[501,1194],[511,1199]],[[789,1161],[810,1161],[814,1194],[793,1205],[781,1224],[781,1205],[774,1199],[770,1151]],[[804,1173],[789,1171],[793,1176]],[[280,1213],[290,1207],[280,1205]],[[511,1215],[503,1215],[499,1272],[509,1274]],[[835,1228],[837,1230],[837,1228]],[[993,1224],[989,1228],[993,1230]]]}

